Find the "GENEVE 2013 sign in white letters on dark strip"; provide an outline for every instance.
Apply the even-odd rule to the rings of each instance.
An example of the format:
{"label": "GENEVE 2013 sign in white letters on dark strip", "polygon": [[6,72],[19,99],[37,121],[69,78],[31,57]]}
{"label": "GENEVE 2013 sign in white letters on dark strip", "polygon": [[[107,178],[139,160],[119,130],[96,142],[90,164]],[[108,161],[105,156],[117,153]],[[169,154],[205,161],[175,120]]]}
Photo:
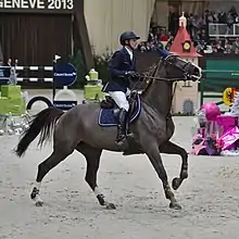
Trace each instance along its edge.
{"label": "GENEVE 2013 sign in white letters on dark strip", "polygon": [[65,12],[74,11],[74,0],[0,0],[0,12]]}

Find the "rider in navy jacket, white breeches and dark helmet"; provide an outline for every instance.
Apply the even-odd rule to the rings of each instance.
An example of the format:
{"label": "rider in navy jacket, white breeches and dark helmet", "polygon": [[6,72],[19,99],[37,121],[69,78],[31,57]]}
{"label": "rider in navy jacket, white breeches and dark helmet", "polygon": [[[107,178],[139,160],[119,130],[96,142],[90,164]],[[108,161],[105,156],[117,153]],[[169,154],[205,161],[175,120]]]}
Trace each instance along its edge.
{"label": "rider in navy jacket, white breeches and dark helmet", "polygon": [[130,93],[129,78],[136,77],[136,61],[134,50],[137,48],[137,40],[140,37],[134,32],[125,32],[120,37],[123,46],[117,50],[109,61],[108,71],[110,80],[103,86],[102,91],[108,92],[120,108],[118,114],[118,134],[116,141],[120,142],[126,137],[126,124],[129,110],[129,103],[126,96]]}

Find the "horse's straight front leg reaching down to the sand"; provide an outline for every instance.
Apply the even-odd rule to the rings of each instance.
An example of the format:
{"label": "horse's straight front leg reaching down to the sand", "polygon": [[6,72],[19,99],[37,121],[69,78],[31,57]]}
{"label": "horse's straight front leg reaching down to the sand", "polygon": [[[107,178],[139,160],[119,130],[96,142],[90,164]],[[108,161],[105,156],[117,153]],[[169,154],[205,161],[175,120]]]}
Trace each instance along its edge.
{"label": "horse's straight front leg reaching down to the sand", "polygon": [[168,184],[167,174],[166,174],[166,171],[164,168],[162,158],[160,155],[158,141],[153,137],[150,137],[150,136],[146,137],[144,136],[144,137],[141,137],[140,142],[141,142],[141,146],[143,148],[143,151],[148,155],[148,158],[151,161],[154,169],[156,171],[156,174],[159,175],[160,179],[163,183],[165,197],[166,197],[166,199],[168,199],[171,201],[169,207],[180,210],[181,206],[177,202],[177,200],[175,199],[175,196],[174,196],[174,193],[171,189],[171,186]]}

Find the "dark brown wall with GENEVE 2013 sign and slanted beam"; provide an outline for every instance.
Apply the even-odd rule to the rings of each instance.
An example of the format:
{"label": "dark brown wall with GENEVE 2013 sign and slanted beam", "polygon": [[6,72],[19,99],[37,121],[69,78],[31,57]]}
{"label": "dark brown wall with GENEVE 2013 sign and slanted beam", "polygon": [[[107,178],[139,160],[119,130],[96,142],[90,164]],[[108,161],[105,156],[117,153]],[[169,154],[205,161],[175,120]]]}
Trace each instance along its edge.
{"label": "dark brown wall with GENEVE 2013 sign and slanted beam", "polygon": [[87,67],[92,67],[84,0],[0,0],[0,56],[4,61],[51,65],[54,54],[67,61],[77,49]]}

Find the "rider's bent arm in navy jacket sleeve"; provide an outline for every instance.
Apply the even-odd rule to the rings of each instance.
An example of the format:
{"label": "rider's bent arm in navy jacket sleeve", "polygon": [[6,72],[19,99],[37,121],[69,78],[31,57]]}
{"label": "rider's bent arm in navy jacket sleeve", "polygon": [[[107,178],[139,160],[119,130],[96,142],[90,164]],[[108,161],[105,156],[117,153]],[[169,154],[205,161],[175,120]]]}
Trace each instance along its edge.
{"label": "rider's bent arm in navy jacket sleeve", "polygon": [[124,54],[121,51],[116,51],[109,61],[108,71],[112,77],[125,77],[126,71],[121,70],[121,65],[124,62]]}

